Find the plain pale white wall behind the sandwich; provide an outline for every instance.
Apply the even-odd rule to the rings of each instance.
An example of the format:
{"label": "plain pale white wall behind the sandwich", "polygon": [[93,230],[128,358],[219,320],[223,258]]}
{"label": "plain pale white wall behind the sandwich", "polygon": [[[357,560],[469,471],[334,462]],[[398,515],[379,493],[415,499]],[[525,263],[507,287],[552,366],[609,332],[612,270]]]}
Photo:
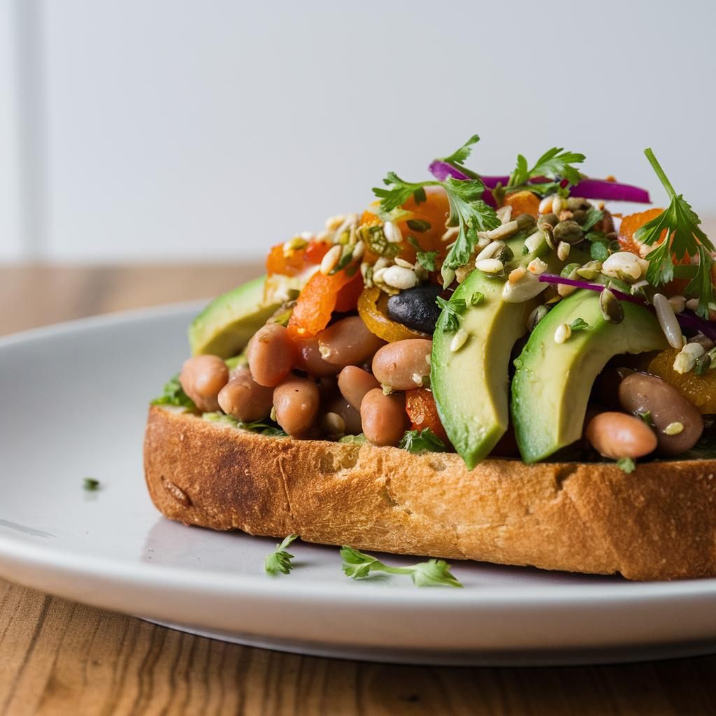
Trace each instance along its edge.
{"label": "plain pale white wall behind the sandwich", "polygon": [[716,213],[712,0],[0,0],[0,258],[263,256],[473,132]]}

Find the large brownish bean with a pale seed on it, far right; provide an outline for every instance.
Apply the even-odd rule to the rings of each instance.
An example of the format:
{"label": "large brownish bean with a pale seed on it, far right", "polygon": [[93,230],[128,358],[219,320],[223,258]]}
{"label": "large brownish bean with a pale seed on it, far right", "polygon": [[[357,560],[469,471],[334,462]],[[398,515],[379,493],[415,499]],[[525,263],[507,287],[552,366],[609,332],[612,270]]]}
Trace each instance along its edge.
{"label": "large brownish bean with a pale seed on it, far right", "polygon": [[634,415],[649,412],[659,440],[659,453],[679,455],[696,445],[704,420],[692,402],[661,378],[632,373],[619,385],[621,407]]}

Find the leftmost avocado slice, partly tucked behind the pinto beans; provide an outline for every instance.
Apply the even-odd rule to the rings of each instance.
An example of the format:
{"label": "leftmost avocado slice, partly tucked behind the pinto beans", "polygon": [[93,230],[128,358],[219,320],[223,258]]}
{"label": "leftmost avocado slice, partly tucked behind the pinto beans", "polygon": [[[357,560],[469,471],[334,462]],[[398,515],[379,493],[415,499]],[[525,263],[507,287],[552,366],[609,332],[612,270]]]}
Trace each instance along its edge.
{"label": "leftmost avocado slice, partly tucked behind the pinto beans", "polygon": [[192,355],[235,356],[266,323],[278,304],[263,304],[264,276],[218,296],[189,326]]}

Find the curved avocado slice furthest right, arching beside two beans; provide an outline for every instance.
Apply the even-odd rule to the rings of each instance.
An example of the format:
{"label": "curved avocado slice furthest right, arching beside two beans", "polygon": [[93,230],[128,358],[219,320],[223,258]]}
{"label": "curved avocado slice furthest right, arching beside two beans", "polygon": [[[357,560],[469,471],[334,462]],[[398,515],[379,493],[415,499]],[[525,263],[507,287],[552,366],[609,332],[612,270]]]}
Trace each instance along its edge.
{"label": "curved avocado slice furthest right, arching beside two beans", "polygon": [[[544,460],[579,440],[592,384],[611,357],[667,347],[654,315],[638,304],[621,305],[624,321],[607,323],[599,310],[599,294],[577,291],[560,301],[532,332],[515,361],[512,381],[512,419],[526,463]],[[556,343],[558,326],[579,318],[589,328]]]}

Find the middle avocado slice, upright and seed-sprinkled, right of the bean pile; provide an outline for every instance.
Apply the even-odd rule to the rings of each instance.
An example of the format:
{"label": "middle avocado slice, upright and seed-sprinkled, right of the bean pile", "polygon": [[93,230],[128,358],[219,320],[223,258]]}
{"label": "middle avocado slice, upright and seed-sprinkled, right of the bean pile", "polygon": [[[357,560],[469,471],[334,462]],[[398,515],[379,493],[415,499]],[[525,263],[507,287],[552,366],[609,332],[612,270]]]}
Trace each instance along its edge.
{"label": "middle avocado slice, upright and seed-sprinkled, right of the bean pile", "polygon": [[[515,258],[505,267],[526,266],[544,254],[550,270],[561,265],[545,243],[523,254],[524,237],[505,242]],[[520,304],[502,299],[505,279],[491,278],[475,270],[463,281],[450,302],[464,299],[468,305],[461,326],[470,337],[458,351],[450,350],[454,332],[445,332],[446,310],[440,314],[432,337],[430,386],[445,432],[470,470],[487,457],[508,427],[510,354],[527,332],[527,318],[539,299]],[[479,291],[484,300],[470,305]]]}

